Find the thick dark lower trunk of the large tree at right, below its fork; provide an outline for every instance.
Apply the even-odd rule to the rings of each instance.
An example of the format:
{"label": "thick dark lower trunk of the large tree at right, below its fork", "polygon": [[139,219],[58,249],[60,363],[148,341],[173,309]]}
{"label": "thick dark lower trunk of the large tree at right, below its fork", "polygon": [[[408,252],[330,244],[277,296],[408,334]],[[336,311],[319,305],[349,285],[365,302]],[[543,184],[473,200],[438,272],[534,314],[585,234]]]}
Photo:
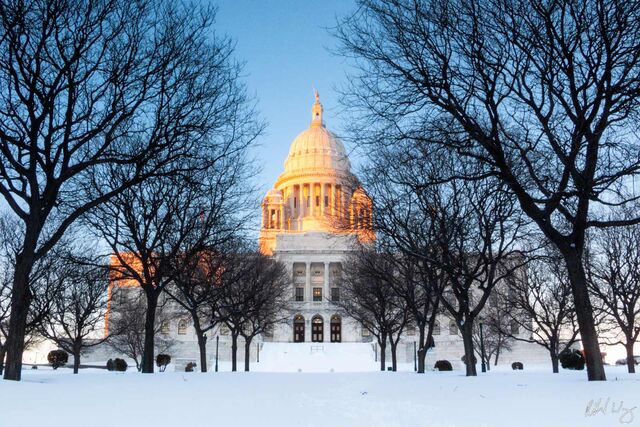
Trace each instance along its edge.
{"label": "thick dark lower trunk of the large tree at right, below its fork", "polygon": [[587,280],[584,273],[584,265],[582,265],[582,257],[575,249],[565,250],[563,255],[571,282],[582,348],[585,352],[587,378],[589,381],[606,381],[607,377],[604,372],[600,346],[598,345],[598,335],[593,320],[593,307],[587,292]]}

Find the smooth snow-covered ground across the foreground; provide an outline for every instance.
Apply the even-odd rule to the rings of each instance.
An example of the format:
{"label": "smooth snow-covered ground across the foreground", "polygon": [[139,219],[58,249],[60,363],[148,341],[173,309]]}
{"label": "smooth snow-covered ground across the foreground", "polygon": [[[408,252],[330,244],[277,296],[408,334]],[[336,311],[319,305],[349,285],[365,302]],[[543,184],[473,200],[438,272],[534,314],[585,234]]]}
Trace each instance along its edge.
{"label": "smooth snow-covered ground across the foreground", "polygon": [[589,383],[584,371],[525,369],[466,378],[40,368],[25,370],[20,383],[0,381],[0,426],[640,425],[640,374],[610,366],[609,381]]}

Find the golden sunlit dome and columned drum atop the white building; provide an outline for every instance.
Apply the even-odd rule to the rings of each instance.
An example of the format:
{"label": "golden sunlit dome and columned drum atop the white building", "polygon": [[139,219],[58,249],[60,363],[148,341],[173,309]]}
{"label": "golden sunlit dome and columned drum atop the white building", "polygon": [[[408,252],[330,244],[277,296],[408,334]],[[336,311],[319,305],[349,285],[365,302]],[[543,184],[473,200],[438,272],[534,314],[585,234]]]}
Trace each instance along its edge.
{"label": "golden sunlit dome and columned drum atop the white building", "polygon": [[372,203],[357,178],[342,142],[323,121],[315,92],[311,123],[291,143],[284,172],[262,202],[260,250],[272,254],[276,235],[287,233],[355,233],[374,238]]}

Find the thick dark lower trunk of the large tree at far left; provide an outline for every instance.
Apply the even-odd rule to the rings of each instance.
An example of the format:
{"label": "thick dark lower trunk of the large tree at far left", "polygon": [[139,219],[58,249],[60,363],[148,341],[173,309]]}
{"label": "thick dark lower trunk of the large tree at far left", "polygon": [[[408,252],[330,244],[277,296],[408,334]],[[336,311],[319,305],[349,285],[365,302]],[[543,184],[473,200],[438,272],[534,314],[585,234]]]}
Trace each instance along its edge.
{"label": "thick dark lower trunk of the large tree at far left", "polygon": [[[37,238],[35,239],[37,240]],[[4,379],[20,381],[22,376],[22,353],[27,332],[27,316],[33,299],[29,288],[29,275],[33,269],[36,241],[29,244],[25,238],[23,252],[16,257],[16,268],[11,290],[11,315],[9,317],[9,336],[5,343],[6,364]]]}

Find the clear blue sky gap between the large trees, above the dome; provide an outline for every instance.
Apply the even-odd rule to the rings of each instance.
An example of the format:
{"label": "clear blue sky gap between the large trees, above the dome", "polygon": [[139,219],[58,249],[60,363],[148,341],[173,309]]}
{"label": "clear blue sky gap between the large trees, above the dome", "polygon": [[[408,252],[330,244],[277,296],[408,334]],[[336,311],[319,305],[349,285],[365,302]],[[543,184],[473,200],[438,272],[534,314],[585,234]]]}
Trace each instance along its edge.
{"label": "clear blue sky gap between the large trees, above the dome", "polygon": [[212,0],[218,6],[216,31],[237,44],[246,63],[245,82],[268,127],[260,138],[259,177],[266,192],[283,170],[289,145],[311,120],[313,88],[320,92],[327,127],[340,133],[338,94],[345,79],[344,58],[331,53],[328,31],[336,17],[355,9],[353,0]]}

